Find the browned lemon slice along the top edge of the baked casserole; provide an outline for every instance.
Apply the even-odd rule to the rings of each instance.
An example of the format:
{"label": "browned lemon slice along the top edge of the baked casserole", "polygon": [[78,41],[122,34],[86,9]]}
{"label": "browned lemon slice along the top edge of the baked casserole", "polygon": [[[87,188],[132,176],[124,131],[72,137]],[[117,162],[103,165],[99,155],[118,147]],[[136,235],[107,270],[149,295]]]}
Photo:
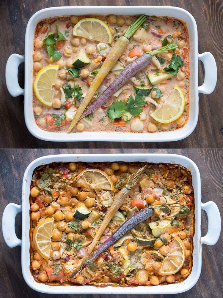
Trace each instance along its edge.
{"label": "browned lemon slice along the top edge of the baked casserole", "polygon": [[78,176],[78,184],[93,190],[114,190],[114,185],[106,173],[96,169],[83,170]]}

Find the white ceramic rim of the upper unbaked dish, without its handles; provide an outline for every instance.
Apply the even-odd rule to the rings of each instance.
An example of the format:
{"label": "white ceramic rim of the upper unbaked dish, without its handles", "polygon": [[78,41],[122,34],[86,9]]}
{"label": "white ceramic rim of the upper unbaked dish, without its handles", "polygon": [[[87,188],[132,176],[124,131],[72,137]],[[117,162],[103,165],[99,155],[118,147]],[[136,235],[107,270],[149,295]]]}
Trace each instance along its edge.
{"label": "white ceramic rim of the upper unbaked dish, without its handles", "polygon": [[[119,132],[49,132],[39,128],[34,119],[33,106],[30,98],[33,98],[32,65],[33,65],[33,40],[36,24],[44,18],[59,15],[106,15],[111,11],[120,15],[159,15],[179,18],[186,22],[190,39],[190,111],[187,124],[178,130],[159,133],[119,133]],[[31,79],[31,82],[30,82]],[[179,7],[170,6],[70,6],[50,7],[39,10],[29,20],[25,35],[25,88],[24,88],[24,114],[28,130],[33,136],[46,141],[120,141],[123,142],[170,142],[189,136],[196,127],[199,112],[198,97],[198,34],[196,21],[187,11]]]}

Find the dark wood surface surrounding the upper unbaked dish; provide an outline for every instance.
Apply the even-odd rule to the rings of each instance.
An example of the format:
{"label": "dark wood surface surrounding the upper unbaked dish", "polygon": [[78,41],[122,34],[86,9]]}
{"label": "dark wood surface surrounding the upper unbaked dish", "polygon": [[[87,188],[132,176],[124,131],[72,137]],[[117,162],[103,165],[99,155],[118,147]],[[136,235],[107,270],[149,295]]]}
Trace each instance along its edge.
{"label": "dark wood surface surrounding the upper unbaked dish", "polygon": [[[199,53],[211,52],[218,68],[218,82],[210,95],[199,95],[199,119],[196,129],[177,142],[46,142],[36,139],[24,122],[23,96],[11,97],[5,84],[8,57],[24,55],[25,30],[36,11],[55,6],[86,5],[169,5],[188,10],[198,27]],[[0,148],[222,148],[222,0],[39,0],[0,1]],[[210,66],[211,67],[211,66]],[[14,71],[12,69],[12,71]],[[204,67],[199,62],[199,85],[204,79]],[[19,67],[19,82],[24,87],[24,65]]]}

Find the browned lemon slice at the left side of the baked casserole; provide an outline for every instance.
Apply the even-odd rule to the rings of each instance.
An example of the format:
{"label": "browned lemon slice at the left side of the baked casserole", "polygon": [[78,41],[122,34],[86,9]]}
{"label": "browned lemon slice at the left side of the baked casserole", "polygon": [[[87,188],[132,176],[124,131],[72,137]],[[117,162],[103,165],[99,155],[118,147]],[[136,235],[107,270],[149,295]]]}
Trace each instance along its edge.
{"label": "browned lemon slice at the left side of the baked casserole", "polygon": [[50,258],[51,237],[53,234],[54,218],[45,218],[35,227],[33,231],[33,242],[37,252],[44,259]]}

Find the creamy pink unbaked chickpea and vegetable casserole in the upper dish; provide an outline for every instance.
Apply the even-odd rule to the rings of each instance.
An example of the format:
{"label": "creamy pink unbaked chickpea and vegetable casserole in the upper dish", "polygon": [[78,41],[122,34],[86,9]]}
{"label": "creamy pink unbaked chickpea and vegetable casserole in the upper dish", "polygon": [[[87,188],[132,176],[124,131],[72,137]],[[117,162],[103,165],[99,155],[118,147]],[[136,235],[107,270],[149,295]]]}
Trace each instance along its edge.
{"label": "creamy pink unbaked chickpea and vegetable casserole in the upper dish", "polygon": [[[73,15],[46,18],[37,24],[33,45],[33,111],[41,129],[155,133],[179,129],[187,123],[190,85],[187,26],[176,18],[146,16],[138,30],[128,35],[127,28],[138,17]],[[84,26],[89,19],[104,24],[109,36],[107,42],[82,37],[76,26],[80,22],[79,27]],[[102,79],[100,70],[122,38],[126,44],[117,53],[119,59],[110,65],[95,89],[92,87],[95,78],[98,75]],[[169,44],[176,47],[168,49]],[[165,46],[167,49],[160,52]],[[136,71],[144,55],[149,60],[141,62],[144,67]],[[132,71],[130,78],[124,73],[128,67]],[[53,79],[48,82],[50,72]],[[123,77],[128,79],[125,83]],[[48,87],[40,87],[39,80],[47,82]],[[110,86],[115,90],[111,83],[120,88],[107,93]],[[41,96],[40,88],[50,97],[49,101]],[[179,97],[177,101],[176,97]],[[80,120],[75,120],[77,114]],[[74,125],[73,121],[78,122]]]}

